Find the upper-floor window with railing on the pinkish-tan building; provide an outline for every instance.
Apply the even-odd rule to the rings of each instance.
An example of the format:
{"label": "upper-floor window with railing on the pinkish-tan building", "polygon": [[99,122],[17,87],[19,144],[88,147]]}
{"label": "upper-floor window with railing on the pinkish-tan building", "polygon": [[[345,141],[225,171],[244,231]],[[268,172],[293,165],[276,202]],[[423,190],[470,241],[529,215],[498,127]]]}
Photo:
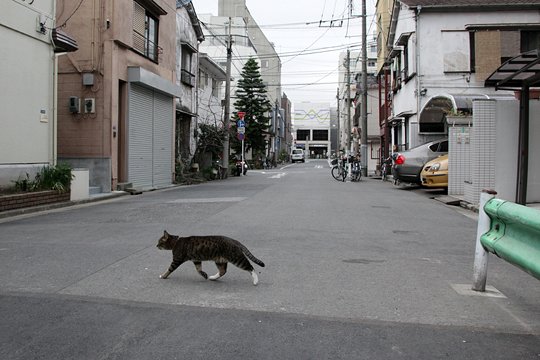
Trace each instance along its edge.
{"label": "upper-floor window with railing on the pinkish-tan building", "polygon": [[142,5],[133,2],[133,49],[150,60],[158,61],[159,22]]}

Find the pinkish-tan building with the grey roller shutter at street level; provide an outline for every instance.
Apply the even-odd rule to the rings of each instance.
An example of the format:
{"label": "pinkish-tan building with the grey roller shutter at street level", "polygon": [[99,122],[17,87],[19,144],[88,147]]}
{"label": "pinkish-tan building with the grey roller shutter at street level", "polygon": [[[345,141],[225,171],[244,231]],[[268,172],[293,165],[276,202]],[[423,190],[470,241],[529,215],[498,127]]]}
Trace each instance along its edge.
{"label": "pinkish-tan building with the grey roller shutter at street level", "polygon": [[193,86],[197,66],[190,56],[189,64],[177,63],[177,45],[190,47],[177,37],[185,16],[177,19],[174,0],[76,5],[59,0],[56,9],[80,43],[59,61],[59,159],[88,168],[90,185],[102,192],[119,183],[171,184],[177,109],[192,98],[179,83]]}

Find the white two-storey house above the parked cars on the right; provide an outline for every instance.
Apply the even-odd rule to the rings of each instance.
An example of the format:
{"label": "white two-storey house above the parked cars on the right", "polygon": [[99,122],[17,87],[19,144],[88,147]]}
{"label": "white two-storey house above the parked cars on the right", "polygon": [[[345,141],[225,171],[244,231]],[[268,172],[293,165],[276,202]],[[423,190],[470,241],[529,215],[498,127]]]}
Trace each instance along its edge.
{"label": "white two-storey house above the parked cars on the right", "polygon": [[[391,49],[389,120],[393,144],[407,149],[447,136],[442,109],[425,109],[422,115],[433,97],[504,95],[484,87],[484,80],[497,69],[501,59],[522,51],[520,44],[524,42],[520,40],[532,35],[540,22],[540,4],[525,3],[494,6],[491,1],[475,5],[452,0],[395,2],[387,43]],[[531,8],[533,3],[536,10]],[[467,109],[472,109],[471,102],[459,110]]]}

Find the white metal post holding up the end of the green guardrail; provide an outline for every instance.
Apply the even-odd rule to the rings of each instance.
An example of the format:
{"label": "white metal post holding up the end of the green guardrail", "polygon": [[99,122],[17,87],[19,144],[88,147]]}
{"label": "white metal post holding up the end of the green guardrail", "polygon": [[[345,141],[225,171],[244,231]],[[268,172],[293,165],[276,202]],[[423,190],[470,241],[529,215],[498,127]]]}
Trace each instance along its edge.
{"label": "white metal post holding up the end of the green guardrail", "polygon": [[486,203],[493,199],[497,192],[482,190],[480,193],[480,206],[478,208],[478,227],[476,231],[476,250],[474,253],[473,285],[474,291],[486,291],[488,252],[482,246],[480,238],[489,231],[491,219],[484,211]]}

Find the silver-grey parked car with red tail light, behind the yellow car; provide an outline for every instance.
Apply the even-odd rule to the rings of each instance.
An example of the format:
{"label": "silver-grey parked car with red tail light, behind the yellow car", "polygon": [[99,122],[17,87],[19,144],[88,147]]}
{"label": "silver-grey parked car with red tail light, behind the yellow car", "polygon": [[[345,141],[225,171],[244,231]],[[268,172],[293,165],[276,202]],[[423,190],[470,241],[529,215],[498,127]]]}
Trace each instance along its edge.
{"label": "silver-grey parked car with red tail light, behind the yellow car", "polygon": [[448,139],[431,141],[398,153],[392,167],[394,180],[421,185],[420,172],[424,165],[445,154],[448,154]]}

